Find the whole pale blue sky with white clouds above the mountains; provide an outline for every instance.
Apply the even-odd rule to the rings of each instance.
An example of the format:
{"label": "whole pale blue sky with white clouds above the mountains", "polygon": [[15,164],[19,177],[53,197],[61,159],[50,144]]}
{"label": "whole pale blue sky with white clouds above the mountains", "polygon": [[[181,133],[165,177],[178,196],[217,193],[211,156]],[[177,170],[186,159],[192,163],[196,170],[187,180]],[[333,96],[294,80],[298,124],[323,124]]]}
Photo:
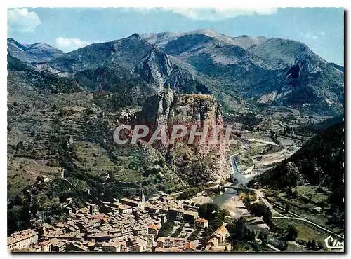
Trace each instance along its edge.
{"label": "whole pale blue sky with white clouds above the mountains", "polygon": [[342,8],[12,8],[8,37],[69,52],[133,33],[214,29],[227,36],[289,38],[343,66]]}

